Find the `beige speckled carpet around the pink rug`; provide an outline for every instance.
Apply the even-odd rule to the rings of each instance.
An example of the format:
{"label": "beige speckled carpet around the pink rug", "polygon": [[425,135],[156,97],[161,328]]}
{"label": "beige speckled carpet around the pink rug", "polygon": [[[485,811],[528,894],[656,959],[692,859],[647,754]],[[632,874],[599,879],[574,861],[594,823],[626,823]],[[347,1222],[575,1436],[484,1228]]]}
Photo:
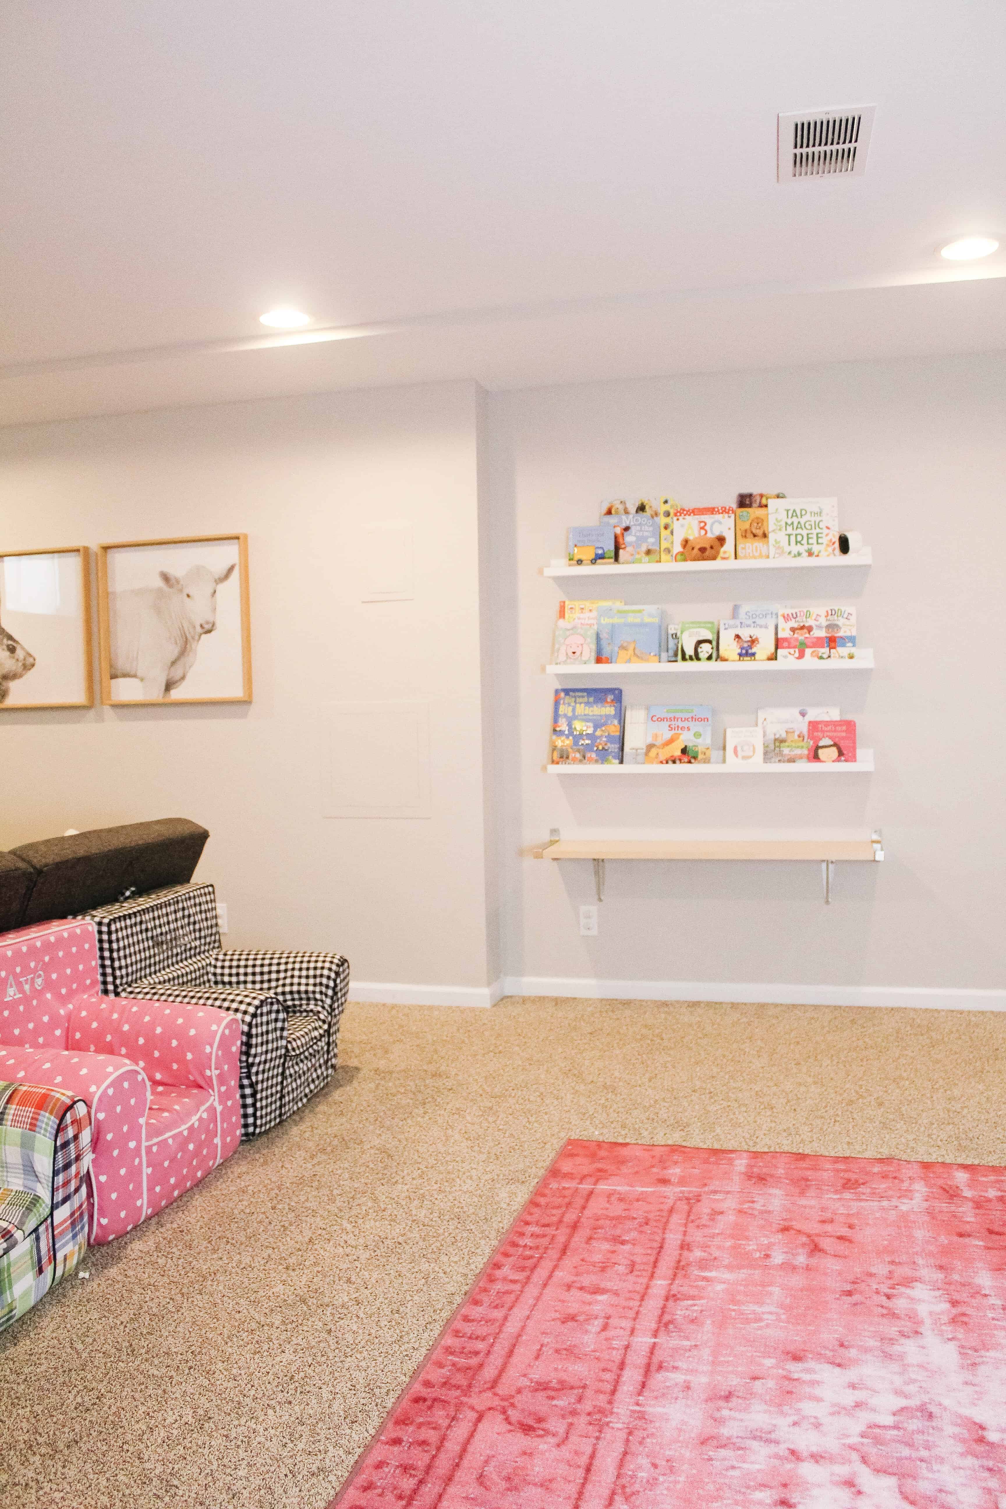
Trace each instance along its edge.
{"label": "beige speckled carpet around the pink rug", "polygon": [[350,1007],[338,1079],[0,1338],[5,1509],[323,1509],[567,1136],[1006,1163],[1006,1016]]}

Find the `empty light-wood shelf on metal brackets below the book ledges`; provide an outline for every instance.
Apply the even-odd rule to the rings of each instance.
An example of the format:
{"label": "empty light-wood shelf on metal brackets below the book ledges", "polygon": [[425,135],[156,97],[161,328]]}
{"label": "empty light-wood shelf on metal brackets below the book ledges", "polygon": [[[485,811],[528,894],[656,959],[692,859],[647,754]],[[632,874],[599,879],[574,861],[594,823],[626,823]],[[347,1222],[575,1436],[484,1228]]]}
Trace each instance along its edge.
{"label": "empty light-wood shelf on metal brackets below the book ledges", "polygon": [[789,863],[819,860],[825,901],[830,902],[833,865],[878,863],[884,859],[884,837],[881,830],[875,828],[861,839],[564,839],[558,828],[552,828],[549,842],[532,853],[534,859],[593,860],[597,901],[605,899],[605,862],[609,859]]}

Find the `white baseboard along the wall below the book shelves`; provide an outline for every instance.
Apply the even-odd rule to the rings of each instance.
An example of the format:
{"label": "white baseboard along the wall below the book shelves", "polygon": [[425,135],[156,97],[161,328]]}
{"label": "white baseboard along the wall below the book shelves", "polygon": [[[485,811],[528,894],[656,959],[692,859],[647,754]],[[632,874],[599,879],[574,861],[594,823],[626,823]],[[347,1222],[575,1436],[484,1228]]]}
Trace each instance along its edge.
{"label": "white baseboard along the wall below the book shelves", "polygon": [[706,979],[504,979],[504,996],[572,996],[581,1000],[738,1000],[783,1007],[916,1007],[935,1011],[1006,1011],[1006,990],[928,985],[753,985]]}

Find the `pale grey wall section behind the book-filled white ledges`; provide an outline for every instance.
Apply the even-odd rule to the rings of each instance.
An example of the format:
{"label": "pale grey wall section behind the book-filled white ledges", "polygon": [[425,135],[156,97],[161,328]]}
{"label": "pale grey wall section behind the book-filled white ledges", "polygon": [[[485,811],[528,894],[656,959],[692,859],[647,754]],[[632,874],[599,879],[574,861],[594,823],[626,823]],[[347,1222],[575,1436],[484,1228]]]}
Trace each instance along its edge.
{"label": "pale grey wall section behind the book-filled white ledges", "polygon": [[[947,991],[1000,990],[1004,392],[1006,359],[976,356],[493,397],[493,549],[508,578],[495,646],[511,988],[558,993],[600,981],[602,993],[605,982],[633,993],[635,982],[635,993],[647,994],[661,982],[668,993],[695,982],[698,994],[712,982],[725,984],[727,997],[753,985],[754,999],[769,987],[762,997],[870,1002],[896,997],[864,987],[926,987],[938,993],[935,1003],[955,1003]],[[602,498],[656,489],[682,502],[757,489],[839,496],[843,525],[858,528],[875,552],[851,601],[878,668],[834,685],[860,742],[876,750],[876,774],[820,785],[685,777],[659,786],[544,776],[551,699],[561,682],[541,665],[564,584],[538,569],[561,555],[567,525],[594,522]],[[820,601],[831,590],[814,589],[807,573],[793,578],[784,601]],[[721,616],[736,585],[730,578],[700,595],[694,576],[661,581],[659,592],[644,581],[618,592],[627,602],[713,605]],[[742,595],[771,599],[777,582],[751,578]],[[611,592],[611,578],[603,585]],[[587,585],[578,592],[587,595]],[[647,685],[650,700],[670,697],[662,684]],[[736,685],[689,679],[677,700],[712,702],[722,724],[727,712],[748,721],[759,703],[811,696],[810,685],[798,693],[781,678],[759,679],[750,694]],[[632,700],[647,696],[632,685]],[[578,908],[594,899],[590,865],[525,857],[552,827],[564,834],[882,827],[887,859],[840,868],[830,907],[819,866],[609,863],[600,936],[582,939]],[[792,988],[772,991],[775,984]],[[707,994],[716,994],[712,987]],[[1006,996],[961,1003],[1006,1003]]]}

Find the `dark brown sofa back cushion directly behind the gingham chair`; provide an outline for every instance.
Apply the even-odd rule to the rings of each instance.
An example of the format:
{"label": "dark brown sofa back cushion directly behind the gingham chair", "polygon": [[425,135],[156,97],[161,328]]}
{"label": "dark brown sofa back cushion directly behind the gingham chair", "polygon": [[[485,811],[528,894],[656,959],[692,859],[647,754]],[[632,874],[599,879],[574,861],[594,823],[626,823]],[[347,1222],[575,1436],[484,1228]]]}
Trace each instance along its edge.
{"label": "dark brown sofa back cushion directly behind the gingham chair", "polygon": [[23,920],[69,917],[127,892],[182,884],[192,880],[208,837],[187,818],[160,818],[23,844],[11,851],[35,871]]}

